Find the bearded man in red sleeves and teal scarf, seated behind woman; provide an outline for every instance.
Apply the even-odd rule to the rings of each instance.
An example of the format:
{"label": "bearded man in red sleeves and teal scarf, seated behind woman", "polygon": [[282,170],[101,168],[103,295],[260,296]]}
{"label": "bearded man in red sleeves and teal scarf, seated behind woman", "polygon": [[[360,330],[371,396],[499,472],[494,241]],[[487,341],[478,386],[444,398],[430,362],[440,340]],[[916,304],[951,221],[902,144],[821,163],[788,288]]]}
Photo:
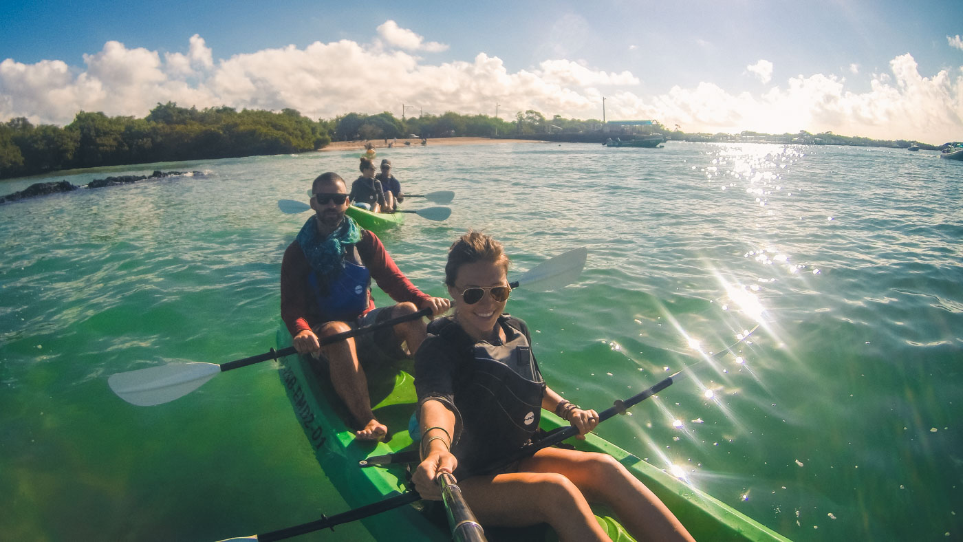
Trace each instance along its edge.
{"label": "bearded man in red sleeves and teal scarf, seated behind woman", "polygon": [[[410,357],[425,340],[425,322],[399,323],[325,347],[319,337],[419,309],[430,308],[438,316],[451,303],[411,284],[377,236],[345,216],[348,191],[339,175],[318,176],[311,194],[315,215],[304,222],[281,261],[281,319],[299,353],[324,354],[334,390],[357,424],[357,438],[381,440],[388,428],[372,411],[366,368]],[[375,308],[372,278],[397,305]]]}

